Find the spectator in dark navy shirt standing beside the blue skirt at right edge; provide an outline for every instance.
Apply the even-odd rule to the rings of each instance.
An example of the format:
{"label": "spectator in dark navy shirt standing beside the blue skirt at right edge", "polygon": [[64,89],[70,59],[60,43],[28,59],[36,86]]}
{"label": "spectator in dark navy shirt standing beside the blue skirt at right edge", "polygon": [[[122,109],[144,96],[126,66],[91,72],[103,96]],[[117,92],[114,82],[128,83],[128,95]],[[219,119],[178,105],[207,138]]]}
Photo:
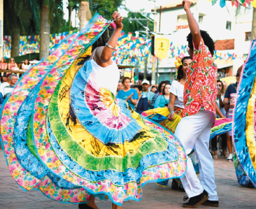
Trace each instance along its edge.
{"label": "spectator in dark navy shirt standing beside the blue skirt at right edge", "polygon": [[[225,110],[228,112],[227,117],[232,118],[233,117],[233,110],[234,105],[236,103],[236,89],[237,85],[239,84],[239,72],[236,73],[236,83],[232,83],[227,87],[227,91],[225,93],[224,98],[224,105]],[[232,150],[232,131],[229,131],[229,134],[227,136],[227,149],[229,150],[229,157],[227,157],[228,161],[233,160],[233,150]]]}

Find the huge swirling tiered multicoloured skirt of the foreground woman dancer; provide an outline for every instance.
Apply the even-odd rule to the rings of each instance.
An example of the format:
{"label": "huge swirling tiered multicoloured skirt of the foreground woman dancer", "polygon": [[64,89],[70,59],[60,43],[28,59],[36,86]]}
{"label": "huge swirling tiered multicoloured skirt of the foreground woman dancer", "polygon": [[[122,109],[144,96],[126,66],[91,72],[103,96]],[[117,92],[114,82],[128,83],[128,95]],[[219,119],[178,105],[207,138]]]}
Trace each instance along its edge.
{"label": "huge swirling tiered multicoloured skirt of the foreground woman dancer", "polygon": [[139,201],[147,182],[185,175],[179,140],[95,85],[90,46],[109,24],[95,15],[24,73],[3,103],[3,152],[25,191],[66,203],[94,194],[121,206]]}

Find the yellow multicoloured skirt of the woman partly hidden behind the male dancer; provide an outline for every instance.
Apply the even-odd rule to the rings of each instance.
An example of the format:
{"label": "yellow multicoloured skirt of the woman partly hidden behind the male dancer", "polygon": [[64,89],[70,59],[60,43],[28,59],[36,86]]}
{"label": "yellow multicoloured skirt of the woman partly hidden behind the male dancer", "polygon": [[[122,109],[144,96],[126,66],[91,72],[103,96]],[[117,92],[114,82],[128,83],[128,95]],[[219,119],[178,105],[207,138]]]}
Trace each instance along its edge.
{"label": "yellow multicoloured skirt of the woman partly hidden behind the male dancer", "polygon": [[[166,129],[169,129],[173,134],[175,134],[176,127],[181,120],[182,108],[174,108],[174,117],[173,121],[169,121],[167,119],[170,114],[168,108],[155,108],[152,110],[146,110],[141,115],[150,118],[154,122],[161,124]],[[218,135],[225,134],[227,131],[232,130],[232,120],[229,118],[216,118],[215,126],[211,129],[210,140]],[[192,164],[194,166],[194,171],[199,174],[199,163],[197,162],[197,156],[192,150],[190,154],[187,155],[192,160]],[[175,179],[178,182],[178,185],[183,188],[183,185],[180,179]],[[169,180],[158,180],[157,185],[161,185],[162,187],[166,187],[168,185]]]}

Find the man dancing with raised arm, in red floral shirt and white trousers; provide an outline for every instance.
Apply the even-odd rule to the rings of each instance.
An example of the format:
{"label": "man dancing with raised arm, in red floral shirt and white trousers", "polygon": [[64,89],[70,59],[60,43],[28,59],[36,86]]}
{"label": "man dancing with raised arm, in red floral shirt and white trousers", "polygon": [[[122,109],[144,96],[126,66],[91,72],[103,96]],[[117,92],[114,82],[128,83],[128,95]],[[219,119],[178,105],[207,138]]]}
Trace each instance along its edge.
{"label": "man dancing with raised arm, in red floral shirt and white trousers", "polygon": [[[188,197],[183,208],[195,208],[201,203],[218,207],[218,195],[214,179],[213,159],[208,151],[211,127],[215,122],[217,98],[217,66],[213,59],[213,39],[199,25],[190,11],[190,1],[183,0],[191,33],[187,36],[192,63],[187,69],[184,87],[184,110],[175,135],[189,154],[193,148],[199,160],[200,179],[194,172],[191,159],[187,158],[187,173],[180,178]],[[184,131],[186,129],[186,131]]]}

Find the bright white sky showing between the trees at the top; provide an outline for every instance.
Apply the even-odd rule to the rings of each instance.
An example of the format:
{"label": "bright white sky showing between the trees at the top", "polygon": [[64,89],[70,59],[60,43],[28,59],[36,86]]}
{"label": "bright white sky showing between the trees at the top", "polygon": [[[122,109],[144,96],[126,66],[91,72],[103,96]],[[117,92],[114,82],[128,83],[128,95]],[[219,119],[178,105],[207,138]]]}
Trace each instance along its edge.
{"label": "bright white sky showing between the trees at the top", "polygon": [[[169,3],[173,0],[156,0],[156,6],[164,5],[166,3]],[[129,10],[141,10],[145,9],[146,12],[150,12],[152,8],[155,7],[155,2],[150,0],[125,0],[125,5]],[[68,0],[63,0],[63,6],[64,6],[64,19],[69,20],[69,10],[66,8],[68,5]],[[124,17],[127,16],[126,10],[119,10],[120,14]],[[72,13],[72,24],[73,27],[75,27],[75,20],[76,19],[76,12],[73,10]],[[79,26],[79,20],[76,21],[76,27]]]}

